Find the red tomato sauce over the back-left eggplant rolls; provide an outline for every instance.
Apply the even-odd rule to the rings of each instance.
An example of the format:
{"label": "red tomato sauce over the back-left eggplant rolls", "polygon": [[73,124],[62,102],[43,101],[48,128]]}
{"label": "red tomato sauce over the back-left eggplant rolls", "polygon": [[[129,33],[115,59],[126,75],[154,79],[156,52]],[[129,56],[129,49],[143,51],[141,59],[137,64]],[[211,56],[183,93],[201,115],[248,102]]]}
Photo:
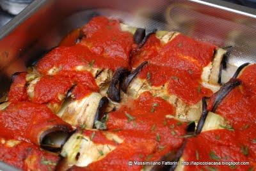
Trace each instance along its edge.
{"label": "red tomato sauce over the back-left eggplant rolls", "polygon": [[[106,17],[94,17],[83,27],[84,38],[78,44],[66,43],[78,35],[78,31],[63,40],[62,47],[54,48],[36,65],[40,73],[47,74],[51,68],[60,70],[76,70],[76,66],[108,68],[129,68],[129,54],[132,47],[133,35],[122,31],[118,20]],[[74,35],[73,35],[74,34]],[[67,45],[72,45],[67,47]]]}

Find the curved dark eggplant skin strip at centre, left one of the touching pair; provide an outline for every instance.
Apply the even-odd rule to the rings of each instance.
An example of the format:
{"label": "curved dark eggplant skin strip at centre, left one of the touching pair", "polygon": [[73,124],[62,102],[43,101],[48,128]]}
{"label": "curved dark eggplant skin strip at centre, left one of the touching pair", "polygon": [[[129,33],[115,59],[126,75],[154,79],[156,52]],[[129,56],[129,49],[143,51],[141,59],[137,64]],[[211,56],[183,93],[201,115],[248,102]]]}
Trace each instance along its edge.
{"label": "curved dark eggplant skin strip at centre, left one of the touching pair", "polygon": [[[113,78],[110,82],[110,85],[108,87],[108,97],[116,102],[120,102],[120,87],[121,87],[121,82],[123,78],[125,78],[129,74],[129,71],[126,68],[119,68],[118,70],[115,71],[115,74],[113,75]],[[116,85],[119,86],[116,87]]]}

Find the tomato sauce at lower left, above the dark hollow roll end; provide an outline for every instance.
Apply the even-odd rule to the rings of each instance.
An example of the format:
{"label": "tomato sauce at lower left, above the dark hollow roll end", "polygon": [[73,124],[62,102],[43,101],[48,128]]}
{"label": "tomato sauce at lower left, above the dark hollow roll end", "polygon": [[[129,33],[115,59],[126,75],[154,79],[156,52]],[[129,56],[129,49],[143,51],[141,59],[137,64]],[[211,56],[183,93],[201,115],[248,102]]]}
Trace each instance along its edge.
{"label": "tomato sauce at lower left, above the dark hollow roll end", "polygon": [[40,135],[53,126],[72,127],[53,114],[46,105],[30,102],[11,103],[0,111],[0,136],[39,145]]}

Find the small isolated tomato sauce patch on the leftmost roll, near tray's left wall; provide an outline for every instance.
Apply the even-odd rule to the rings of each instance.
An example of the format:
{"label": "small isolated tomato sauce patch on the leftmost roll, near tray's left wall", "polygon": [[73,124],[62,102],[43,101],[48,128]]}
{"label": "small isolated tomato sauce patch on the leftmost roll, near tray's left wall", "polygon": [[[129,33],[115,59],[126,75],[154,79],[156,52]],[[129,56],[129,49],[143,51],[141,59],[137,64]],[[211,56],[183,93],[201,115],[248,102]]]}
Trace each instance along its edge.
{"label": "small isolated tomato sauce patch on the leftmost roll, near tray's left wall", "polygon": [[26,91],[26,72],[19,73],[19,75],[15,76],[12,85],[10,87],[10,91],[8,93],[8,100],[15,101],[25,101],[28,99],[27,91]]}

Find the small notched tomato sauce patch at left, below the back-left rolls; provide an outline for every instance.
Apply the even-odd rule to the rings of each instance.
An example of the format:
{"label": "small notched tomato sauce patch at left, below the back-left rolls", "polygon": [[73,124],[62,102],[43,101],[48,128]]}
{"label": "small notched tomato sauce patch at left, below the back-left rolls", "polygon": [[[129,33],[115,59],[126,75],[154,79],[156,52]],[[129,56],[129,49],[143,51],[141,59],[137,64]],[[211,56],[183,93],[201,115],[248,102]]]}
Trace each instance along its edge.
{"label": "small notched tomato sauce patch at left, below the back-left rolls", "polygon": [[[61,71],[58,75],[45,75],[35,85],[35,103],[61,103],[71,89],[74,98],[81,99],[92,92],[99,91],[92,73],[88,71]],[[60,99],[60,96],[63,96]]]}

